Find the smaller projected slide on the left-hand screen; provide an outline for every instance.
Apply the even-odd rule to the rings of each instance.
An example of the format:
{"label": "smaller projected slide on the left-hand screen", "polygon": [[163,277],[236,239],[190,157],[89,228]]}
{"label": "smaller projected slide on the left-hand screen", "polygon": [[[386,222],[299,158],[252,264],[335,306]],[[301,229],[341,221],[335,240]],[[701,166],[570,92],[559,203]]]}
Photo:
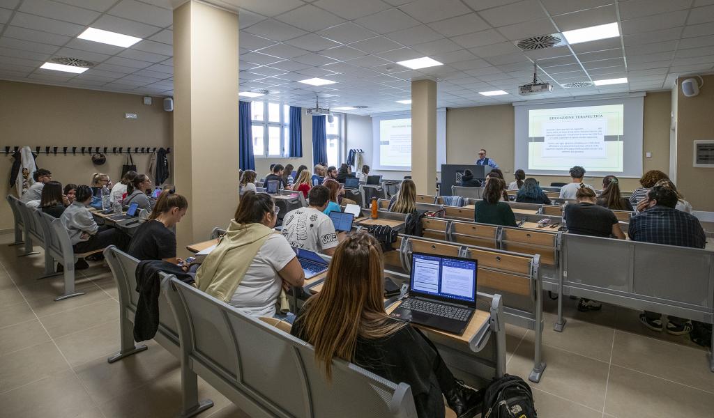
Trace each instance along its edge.
{"label": "smaller projected slide on the left-hand screen", "polygon": [[411,118],[379,121],[379,162],[411,167]]}

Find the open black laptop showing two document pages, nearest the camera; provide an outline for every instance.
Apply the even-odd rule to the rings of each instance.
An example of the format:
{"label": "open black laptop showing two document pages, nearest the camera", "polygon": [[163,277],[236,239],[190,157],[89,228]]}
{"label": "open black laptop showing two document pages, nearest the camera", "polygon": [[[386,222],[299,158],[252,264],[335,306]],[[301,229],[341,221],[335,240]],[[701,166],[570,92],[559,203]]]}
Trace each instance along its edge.
{"label": "open black laptop showing two document pages, nearest the camera", "polygon": [[478,262],[412,253],[408,297],[391,317],[461,335],[476,310]]}

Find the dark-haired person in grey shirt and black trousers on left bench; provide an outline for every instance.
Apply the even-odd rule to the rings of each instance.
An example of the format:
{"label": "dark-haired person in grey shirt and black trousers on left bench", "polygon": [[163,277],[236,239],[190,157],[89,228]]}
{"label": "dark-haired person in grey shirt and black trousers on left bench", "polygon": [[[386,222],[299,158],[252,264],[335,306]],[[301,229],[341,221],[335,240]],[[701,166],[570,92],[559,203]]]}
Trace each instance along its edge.
{"label": "dark-haired person in grey shirt and black trousers on left bench", "polygon": [[69,233],[74,252],[89,253],[109,245],[116,245],[119,250],[126,251],[129,235],[118,228],[107,228],[106,225],[99,228],[87,209],[92,198],[91,188],[88,185],[80,185],[76,196],[74,203],[69,205],[60,217],[62,225]]}

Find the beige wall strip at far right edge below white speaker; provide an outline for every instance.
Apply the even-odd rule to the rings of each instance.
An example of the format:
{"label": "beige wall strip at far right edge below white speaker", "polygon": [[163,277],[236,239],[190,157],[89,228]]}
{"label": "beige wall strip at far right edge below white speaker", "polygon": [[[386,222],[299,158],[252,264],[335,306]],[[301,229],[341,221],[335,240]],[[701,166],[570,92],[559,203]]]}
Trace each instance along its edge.
{"label": "beige wall strip at far right edge below white speaker", "polygon": [[714,138],[714,76],[704,76],[699,95],[686,97],[677,81],[677,187],[695,210],[714,210],[714,168],[695,168],[694,141]]}

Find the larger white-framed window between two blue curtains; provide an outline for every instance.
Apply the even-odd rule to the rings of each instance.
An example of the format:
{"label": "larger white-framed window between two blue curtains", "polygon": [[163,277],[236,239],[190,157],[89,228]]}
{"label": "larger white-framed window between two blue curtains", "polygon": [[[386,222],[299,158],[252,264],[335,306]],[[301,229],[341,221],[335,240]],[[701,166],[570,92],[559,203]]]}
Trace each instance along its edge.
{"label": "larger white-framed window between two blue curtains", "polygon": [[287,157],[290,144],[290,106],[275,102],[251,103],[253,155]]}

